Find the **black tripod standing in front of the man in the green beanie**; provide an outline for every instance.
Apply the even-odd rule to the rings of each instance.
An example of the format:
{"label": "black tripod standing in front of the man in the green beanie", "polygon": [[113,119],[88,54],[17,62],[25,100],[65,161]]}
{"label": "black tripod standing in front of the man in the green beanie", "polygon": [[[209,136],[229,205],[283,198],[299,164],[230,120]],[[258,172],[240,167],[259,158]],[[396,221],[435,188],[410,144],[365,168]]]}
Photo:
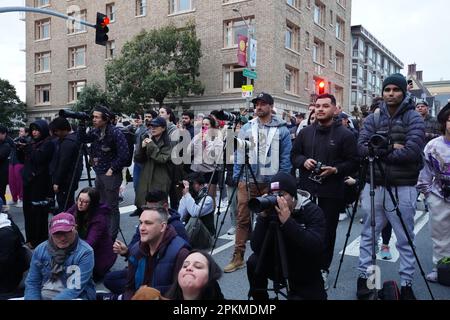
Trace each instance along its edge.
{"label": "black tripod standing in front of the man in the green beanie", "polygon": [[[373,146],[371,146],[370,143],[369,143],[368,164],[369,164],[369,176],[370,176],[370,209],[371,209],[370,210],[370,216],[371,216],[371,227],[372,227],[372,266],[376,266],[375,246],[377,245],[376,244],[377,241],[376,241],[376,234],[375,234],[376,223],[375,223],[375,174],[374,174],[375,168],[374,168],[374,165],[375,164],[377,165],[377,168],[380,171],[381,176],[386,177],[386,174],[385,174],[385,171],[384,171],[384,169],[383,169],[383,167],[382,167],[382,165],[380,163],[380,159],[375,156],[375,150],[374,150]],[[367,169],[365,169],[364,167],[361,170],[361,173],[364,172],[364,176],[365,176],[366,170]],[[361,181],[364,181],[364,178],[365,178],[364,176],[361,175]],[[361,185],[362,185],[362,183],[361,183]],[[418,267],[420,269],[420,272],[421,272],[421,275],[422,275],[422,277],[423,277],[423,279],[425,281],[425,284],[427,286],[427,289],[428,289],[428,292],[429,292],[429,294],[431,296],[431,299],[434,300],[434,296],[433,296],[433,293],[431,291],[430,285],[428,284],[428,281],[426,280],[426,277],[425,277],[425,271],[423,270],[422,264],[420,263],[419,257],[417,255],[417,252],[416,252],[415,247],[414,247],[414,243],[413,243],[413,241],[411,239],[411,235],[409,234],[408,228],[407,228],[407,226],[405,224],[405,221],[404,221],[404,219],[402,217],[402,213],[401,213],[401,211],[399,209],[398,202],[396,201],[395,196],[394,196],[394,194],[392,192],[392,188],[391,188],[391,186],[388,183],[385,184],[385,188],[388,191],[388,194],[389,194],[389,197],[391,199],[392,204],[394,205],[396,214],[397,214],[397,216],[399,218],[399,221],[400,221],[400,223],[402,225],[402,229],[403,229],[403,231],[405,233],[405,236],[406,236],[406,239],[408,241],[408,244],[411,247],[411,250],[412,250],[412,252],[414,254],[414,257],[415,257],[415,259],[417,261],[417,265],[418,265]],[[359,196],[360,196],[362,190],[363,189],[360,188],[360,191],[359,191],[359,194],[358,194],[358,198],[357,198],[357,200],[355,202],[355,205],[353,207],[352,217],[351,217],[349,229],[348,229],[348,232],[347,232],[347,237],[346,237],[346,240],[345,240],[343,253],[342,253],[342,256],[341,256],[340,263],[339,263],[339,269],[338,269],[338,274],[336,276],[336,280],[335,280],[335,283],[334,283],[334,288],[336,288],[337,280],[338,280],[338,277],[339,277],[339,272],[340,272],[340,269],[341,269],[341,266],[342,266],[342,262],[344,260],[345,250],[346,250],[346,247],[347,247],[347,243],[348,243],[348,240],[349,240],[349,237],[350,237],[352,224],[353,224],[353,221],[354,221],[354,218],[355,218],[355,214],[356,214],[357,205],[358,205],[358,201],[359,201]],[[374,272],[375,272],[375,269],[374,269]],[[378,299],[378,292],[377,292],[376,286],[373,286],[370,298],[371,299],[375,299],[375,300]]]}

